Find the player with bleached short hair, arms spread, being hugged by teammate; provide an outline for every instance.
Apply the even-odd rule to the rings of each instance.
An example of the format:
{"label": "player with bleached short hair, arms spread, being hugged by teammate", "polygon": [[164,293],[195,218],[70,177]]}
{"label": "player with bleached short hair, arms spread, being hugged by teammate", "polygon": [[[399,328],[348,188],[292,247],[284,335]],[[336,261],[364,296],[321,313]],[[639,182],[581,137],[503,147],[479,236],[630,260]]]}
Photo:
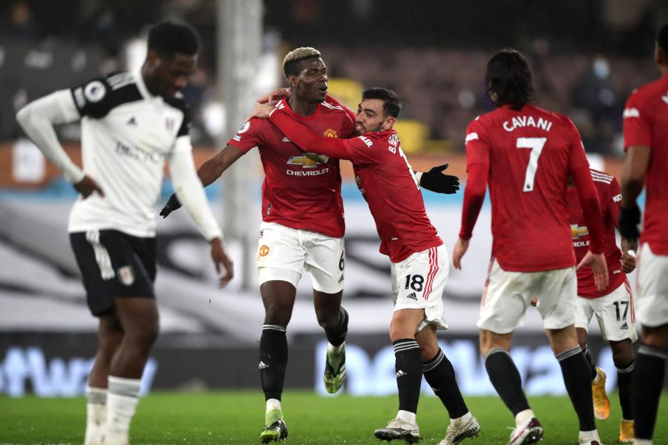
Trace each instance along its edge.
{"label": "player with bleached short hair, arms spread, being hugged by teammate", "polygon": [[[331,138],[352,135],[353,120],[347,111],[326,99],[327,67],[317,49],[290,51],[283,60],[283,72],[292,92],[280,102],[286,113],[318,134]],[[260,150],[265,174],[257,268],[266,312],[259,368],[267,409],[260,440],[267,443],[287,437],[281,410],[287,365],[285,333],[303,270],[310,274],[316,316],[328,340],[325,388],[335,393],[344,380],[348,330],[348,314],[341,307],[344,217],[338,159],[315,153],[305,156],[264,119],[248,120],[220,153],[202,164],[198,170],[202,183],[211,184],[253,147]],[[445,176],[433,170],[424,173],[431,183],[438,182],[434,177]],[[170,197],[160,214],[168,216],[179,205],[175,196]]]}

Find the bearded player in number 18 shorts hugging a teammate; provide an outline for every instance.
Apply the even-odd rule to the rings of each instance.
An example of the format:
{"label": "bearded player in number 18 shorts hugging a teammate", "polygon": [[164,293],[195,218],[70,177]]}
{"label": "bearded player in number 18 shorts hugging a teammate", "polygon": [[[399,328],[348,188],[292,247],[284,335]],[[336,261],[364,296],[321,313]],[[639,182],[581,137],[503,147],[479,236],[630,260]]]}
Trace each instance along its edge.
{"label": "bearded player in number 18 shorts hugging a teammate", "polygon": [[[399,412],[374,435],[379,439],[420,439],[415,413],[422,374],[450,414],[451,424],[440,445],[477,436],[479,424],[470,414],[457,386],[454,369],[436,341],[436,330],[446,329],[443,289],[449,266],[447,250],[424,210],[413,169],[397,132],[399,98],[385,88],[363,92],[355,120],[356,138],[322,138],[295,120],[279,102],[276,108],[259,105],[253,115],[269,118],[305,152],[317,152],[353,163],[356,181],[376,222],[381,253],[392,261],[392,298],[395,312],[390,338],[395,350]],[[440,174],[440,173],[439,173]]]}

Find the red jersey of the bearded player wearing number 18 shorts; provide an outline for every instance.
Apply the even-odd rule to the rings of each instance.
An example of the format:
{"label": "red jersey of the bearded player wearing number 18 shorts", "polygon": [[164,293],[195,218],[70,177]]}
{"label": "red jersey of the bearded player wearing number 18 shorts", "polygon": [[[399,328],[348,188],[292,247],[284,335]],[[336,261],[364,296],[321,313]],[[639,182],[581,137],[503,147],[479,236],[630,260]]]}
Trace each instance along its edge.
{"label": "red jersey of the bearded player wearing number 18 shorts", "polygon": [[390,261],[397,263],[415,252],[443,244],[427,217],[420,186],[401,151],[397,131],[323,140],[296,122],[292,115],[276,110],[270,120],[303,149],[310,151],[320,144],[321,153],[352,161],[357,185],[369,204],[381,238],[380,251]]}

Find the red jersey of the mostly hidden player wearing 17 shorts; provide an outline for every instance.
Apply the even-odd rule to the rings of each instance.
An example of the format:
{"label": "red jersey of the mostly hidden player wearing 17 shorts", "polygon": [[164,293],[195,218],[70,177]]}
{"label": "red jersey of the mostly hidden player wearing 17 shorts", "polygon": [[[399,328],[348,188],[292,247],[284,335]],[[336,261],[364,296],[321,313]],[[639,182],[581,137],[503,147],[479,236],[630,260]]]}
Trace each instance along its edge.
{"label": "red jersey of the mostly hidden player wearing 17 shorts", "polygon": [[[594,273],[591,268],[585,267],[578,270],[578,295],[587,298],[599,298],[617,289],[626,281],[626,273],[621,270],[621,249],[617,247],[614,228],[619,220],[619,202],[621,201],[621,188],[614,176],[591,169],[591,179],[594,179],[598,202],[601,203],[601,216],[603,216],[603,245],[605,248],[605,261],[607,262],[607,273],[610,277],[607,288],[601,292],[596,290]],[[575,259],[580,262],[589,250],[589,230],[582,213],[578,191],[568,188],[568,225],[571,226],[571,237],[575,249]]]}

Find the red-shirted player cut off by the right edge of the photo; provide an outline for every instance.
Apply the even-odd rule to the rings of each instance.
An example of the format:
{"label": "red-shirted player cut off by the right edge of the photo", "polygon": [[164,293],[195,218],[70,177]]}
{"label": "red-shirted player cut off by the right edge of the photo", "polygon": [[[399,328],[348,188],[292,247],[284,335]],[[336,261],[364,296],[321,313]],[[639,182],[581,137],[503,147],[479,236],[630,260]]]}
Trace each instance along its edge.
{"label": "red-shirted player cut off by the right edge of the photo", "polygon": [[[619,231],[640,238],[637,314],[642,344],[635,366],[635,444],[652,443],[668,357],[668,24],[656,40],[662,78],[633,91],[623,113],[627,152],[621,176]],[[636,203],[646,183],[642,236]]]}

